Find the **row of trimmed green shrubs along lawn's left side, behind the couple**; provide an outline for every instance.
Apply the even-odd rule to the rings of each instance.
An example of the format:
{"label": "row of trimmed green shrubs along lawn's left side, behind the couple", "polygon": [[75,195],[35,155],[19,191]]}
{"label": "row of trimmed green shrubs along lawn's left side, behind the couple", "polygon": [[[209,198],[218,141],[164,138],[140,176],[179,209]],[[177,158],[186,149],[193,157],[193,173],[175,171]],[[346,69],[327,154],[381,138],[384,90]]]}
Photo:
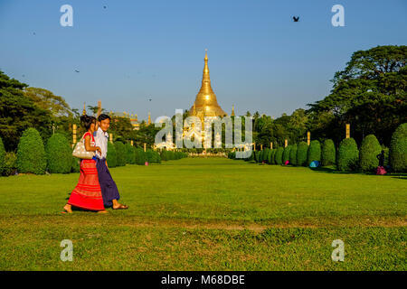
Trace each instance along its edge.
{"label": "row of trimmed green shrubs along lawn's left side, behind the couple", "polygon": [[[144,152],[131,144],[108,143],[107,161],[109,167],[130,164],[161,163],[187,157],[186,153],[148,149]],[[17,152],[5,152],[0,137],[0,175],[19,173],[43,174],[80,172],[80,160],[72,156],[72,148],[64,135],[54,134],[43,144],[43,139],[34,128],[27,128],[20,138]]]}

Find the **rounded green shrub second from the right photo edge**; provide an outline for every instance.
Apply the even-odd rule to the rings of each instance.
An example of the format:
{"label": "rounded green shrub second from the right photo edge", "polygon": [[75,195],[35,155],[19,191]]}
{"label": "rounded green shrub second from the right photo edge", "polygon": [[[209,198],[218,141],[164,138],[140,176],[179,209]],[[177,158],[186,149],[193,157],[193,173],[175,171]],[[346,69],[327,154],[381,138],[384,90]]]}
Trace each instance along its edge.
{"label": "rounded green shrub second from the right photo edge", "polygon": [[359,166],[364,172],[374,172],[379,165],[377,155],[382,152],[382,146],[374,135],[364,137],[359,151]]}

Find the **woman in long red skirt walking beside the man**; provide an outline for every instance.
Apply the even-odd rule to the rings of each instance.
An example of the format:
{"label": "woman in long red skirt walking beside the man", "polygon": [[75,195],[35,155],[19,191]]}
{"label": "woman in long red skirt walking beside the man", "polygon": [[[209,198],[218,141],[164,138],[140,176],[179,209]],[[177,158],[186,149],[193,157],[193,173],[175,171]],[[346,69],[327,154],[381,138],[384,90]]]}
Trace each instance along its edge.
{"label": "woman in long red skirt walking beside the man", "polygon": [[[90,152],[100,153],[100,147],[95,146],[95,139],[93,138],[93,132],[98,128],[96,118],[85,115],[80,117],[80,122],[87,130],[82,137],[85,149]],[[70,200],[63,207],[64,212],[71,213],[71,206],[85,210],[107,212],[103,206],[100,191],[96,156],[93,156],[90,160],[80,160],[80,179],[75,189],[71,192]]]}

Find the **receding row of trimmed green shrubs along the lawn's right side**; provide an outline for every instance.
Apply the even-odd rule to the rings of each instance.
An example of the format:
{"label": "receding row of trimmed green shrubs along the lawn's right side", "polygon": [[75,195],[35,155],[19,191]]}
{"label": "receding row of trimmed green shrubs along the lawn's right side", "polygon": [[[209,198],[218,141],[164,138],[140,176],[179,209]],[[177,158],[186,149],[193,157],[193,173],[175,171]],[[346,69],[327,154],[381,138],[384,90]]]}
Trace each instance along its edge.
{"label": "receding row of trimmed green shrubs along the lawn's right side", "polygon": [[[309,146],[301,142],[285,148],[254,151],[245,161],[269,164],[285,164],[289,161],[290,164],[298,166],[308,166],[317,161],[322,166],[336,165],[336,169],[343,172],[374,172],[379,165],[379,155],[382,151],[384,165],[389,164],[392,172],[407,172],[407,123],[394,131],[389,150],[382,147],[374,135],[367,135],[360,148],[353,138],[342,140],[337,152],[331,139],[325,140],[322,145],[317,140],[313,140]],[[235,158],[235,154],[230,153],[228,157]]]}

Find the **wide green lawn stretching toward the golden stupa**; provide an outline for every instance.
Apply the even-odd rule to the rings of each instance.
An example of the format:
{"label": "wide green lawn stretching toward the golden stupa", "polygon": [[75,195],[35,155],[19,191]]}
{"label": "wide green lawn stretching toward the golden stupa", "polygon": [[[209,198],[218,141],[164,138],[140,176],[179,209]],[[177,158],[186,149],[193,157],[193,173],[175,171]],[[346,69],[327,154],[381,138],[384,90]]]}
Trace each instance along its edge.
{"label": "wide green lawn stretching toward the golden stupa", "polygon": [[1,177],[0,270],[407,269],[406,176],[223,158],[111,174],[130,208],[107,215],[60,213],[77,173]]}

